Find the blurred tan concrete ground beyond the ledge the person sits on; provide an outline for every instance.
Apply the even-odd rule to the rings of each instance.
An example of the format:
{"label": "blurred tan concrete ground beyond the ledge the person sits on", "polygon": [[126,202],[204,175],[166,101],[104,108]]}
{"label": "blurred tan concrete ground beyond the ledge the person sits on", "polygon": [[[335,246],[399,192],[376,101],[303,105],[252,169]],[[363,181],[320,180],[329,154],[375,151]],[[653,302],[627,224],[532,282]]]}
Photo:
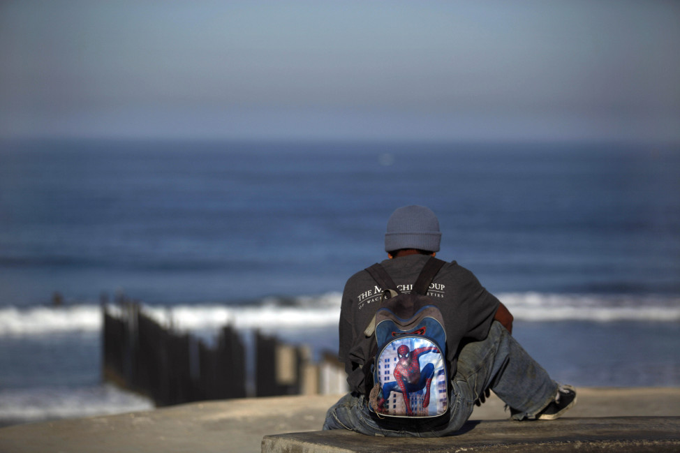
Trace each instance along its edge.
{"label": "blurred tan concrete ground beyond the ledge the person sits on", "polygon": [[[579,401],[566,417],[680,416],[680,388],[579,388]],[[210,401],[156,410],[63,419],[0,429],[0,452],[238,452],[258,453],[263,438],[317,431],[332,396],[281,396]],[[503,420],[509,413],[495,396],[475,408],[471,420]],[[554,422],[519,422],[538,429]],[[481,425],[480,426],[486,426]],[[348,433],[353,434],[353,433]],[[358,435],[357,435],[358,436]],[[364,439],[366,436],[361,436]],[[421,449],[422,450],[422,445]],[[680,448],[676,451],[680,452]]]}

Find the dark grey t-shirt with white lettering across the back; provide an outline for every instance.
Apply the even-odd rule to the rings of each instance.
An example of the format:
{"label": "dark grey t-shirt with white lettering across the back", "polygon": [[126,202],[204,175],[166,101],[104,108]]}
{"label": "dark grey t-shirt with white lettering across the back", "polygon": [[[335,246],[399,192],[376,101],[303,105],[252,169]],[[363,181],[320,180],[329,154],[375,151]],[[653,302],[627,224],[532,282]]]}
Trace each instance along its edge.
{"label": "dark grey t-shirt with white lettering across the back", "polygon": [[[429,256],[407,255],[385,260],[380,264],[401,292],[411,292],[418,274]],[[378,310],[381,290],[368,272],[357,272],[347,281],[340,310],[339,357],[345,364],[352,391],[364,392],[364,372],[361,366],[369,362],[371,344],[364,336],[371,319]],[[453,375],[455,357],[461,342],[480,341],[489,334],[489,327],[498,310],[498,299],[482,288],[480,282],[457,262],[448,262],[430,285],[430,295],[444,318],[446,350]]]}

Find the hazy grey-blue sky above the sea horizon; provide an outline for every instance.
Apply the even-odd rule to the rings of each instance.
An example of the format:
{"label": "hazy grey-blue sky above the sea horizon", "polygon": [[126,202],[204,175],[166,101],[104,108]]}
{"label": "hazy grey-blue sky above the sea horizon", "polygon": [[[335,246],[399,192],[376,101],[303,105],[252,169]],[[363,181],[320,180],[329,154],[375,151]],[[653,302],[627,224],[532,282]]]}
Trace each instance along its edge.
{"label": "hazy grey-blue sky above the sea horizon", "polygon": [[680,140],[680,2],[0,0],[2,135]]}

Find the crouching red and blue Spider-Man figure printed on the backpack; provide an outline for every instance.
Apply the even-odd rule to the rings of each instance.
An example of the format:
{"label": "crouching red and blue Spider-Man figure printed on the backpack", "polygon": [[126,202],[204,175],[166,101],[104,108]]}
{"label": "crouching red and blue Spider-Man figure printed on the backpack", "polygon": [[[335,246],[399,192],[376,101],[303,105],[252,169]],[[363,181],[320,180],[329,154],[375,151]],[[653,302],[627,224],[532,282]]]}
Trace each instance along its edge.
{"label": "crouching red and blue Spider-Man figure printed on the backpack", "polygon": [[422,407],[427,408],[430,402],[430,383],[434,376],[434,365],[426,364],[424,368],[420,369],[419,357],[428,352],[438,352],[434,346],[427,348],[415,348],[409,350],[408,346],[401,345],[397,349],[397,356],[399,362],[394,366],[394,379],[396,382],[385,383],[383,385],[383,399],[378,403],[378,412],[383,412],[383,404],[385,400],[390,397],[391,392],[400,392],[404,396],[404,403],[406,404],[406,414],[413,415],[411,410],[411,403],[408,394],[411,392],[418,392],[425,389],[425,398],[422,402]]}

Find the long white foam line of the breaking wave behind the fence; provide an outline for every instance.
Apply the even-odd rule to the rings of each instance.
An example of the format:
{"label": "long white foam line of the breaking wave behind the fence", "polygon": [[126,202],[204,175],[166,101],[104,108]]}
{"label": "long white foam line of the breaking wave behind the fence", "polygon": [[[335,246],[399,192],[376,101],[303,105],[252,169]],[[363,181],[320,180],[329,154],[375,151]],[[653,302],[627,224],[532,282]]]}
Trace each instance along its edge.
{"label": "long white foam line of the breaking wave behind the fence", "polygon": [[[680,321],[680,297],[661,295],[566,295],[538,292],[498,295],[515,320],[554,321]],[[237,329],[276,332],[288,328],[335,328],[339,320],[338,293],[293,300],[269,298],[260,304],[146,306],[142,310],[166,326],[183,331],[216,331],[232,325]],[[117,307],[110,306],[117,311]],[[59,332],[98,332],[101,307],[81,304],[63,307],[0,309],[0,336],[31,336]]]}

